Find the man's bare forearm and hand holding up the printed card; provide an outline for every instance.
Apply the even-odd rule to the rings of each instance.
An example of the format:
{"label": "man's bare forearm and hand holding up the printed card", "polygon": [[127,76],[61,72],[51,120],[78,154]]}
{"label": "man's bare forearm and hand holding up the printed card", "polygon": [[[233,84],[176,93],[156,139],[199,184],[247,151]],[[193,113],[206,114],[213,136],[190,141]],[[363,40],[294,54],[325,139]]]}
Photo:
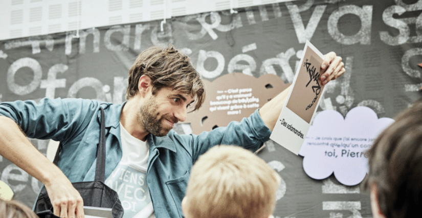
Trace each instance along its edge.
{"label": "man's bare forearm and hand holding up the printed card", "polygon": [[[334,52],[330,52],[324,55],[321,69],[325,70],[325,72],[320,77],[320,82],[323,85],[327,84],[327,82],[330,80],[337,79],[345,72],[342,58],[337,56]],[[271,99],[271,101],[265,103],[259,109],[259,115],[261,116],[265,125],[270,128],[271,131],[274,129],[277,119],[280,116],[281,109],[284,106],[284,102],[287,100],[287,95],[288,92],[290,92],[290,89],[291,86]]]}

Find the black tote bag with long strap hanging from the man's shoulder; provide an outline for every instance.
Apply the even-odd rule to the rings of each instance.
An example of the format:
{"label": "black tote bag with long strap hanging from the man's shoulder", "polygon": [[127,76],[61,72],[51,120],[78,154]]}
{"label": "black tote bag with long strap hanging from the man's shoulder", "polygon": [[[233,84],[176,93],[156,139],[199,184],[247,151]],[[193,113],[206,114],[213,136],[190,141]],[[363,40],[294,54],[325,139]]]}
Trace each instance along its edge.
{"label": "black tote bag with long strap hanging from the man's shoulder", "polygon": [[[101,129],[100,141],[97,148],[97,163],[95,169],[95,180],[92,182],[75,182],[73,187],[79,191],[84,206],[112,208],[114,218],[123,217],[123,207],[117,195],[117,192],[104,184],[105,179],[105,118],[104,110],[101,110]],[[57,165],[59,159],[59,145],[53,163]],[[35,202],[34,212],[40,218],[56,218],[53,214],[53,206],[47,194],[45,186],[42,187],[37,201]]]}

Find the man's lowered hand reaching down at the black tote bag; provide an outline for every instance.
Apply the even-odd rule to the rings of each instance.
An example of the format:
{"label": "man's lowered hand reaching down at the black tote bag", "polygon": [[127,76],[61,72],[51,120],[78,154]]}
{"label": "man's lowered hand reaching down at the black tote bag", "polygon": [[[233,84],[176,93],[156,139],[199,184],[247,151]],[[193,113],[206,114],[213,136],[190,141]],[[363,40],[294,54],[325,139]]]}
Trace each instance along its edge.
{"label": "man's lowered hand reaching down at the black tote bag", "polygon": [[[64,175],[63,175],[64,176]],[[79,192],[66,178],[56,178],[46,184],[54,215],[62,218],[84,218],[83,200]]]}

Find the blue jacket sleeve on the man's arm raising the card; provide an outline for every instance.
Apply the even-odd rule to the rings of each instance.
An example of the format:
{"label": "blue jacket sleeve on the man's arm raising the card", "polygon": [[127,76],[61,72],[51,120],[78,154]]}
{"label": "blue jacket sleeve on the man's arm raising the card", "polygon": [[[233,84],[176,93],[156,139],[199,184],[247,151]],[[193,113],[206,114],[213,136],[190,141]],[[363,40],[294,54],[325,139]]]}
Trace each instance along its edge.
{"label": "blue jacket sleeve on the man's arm raising the card", "polygon": [[195,162],[199,155],[204,154],[209,148],[215,145],[237,145],[251,151],[257,150],[264,142],[270,139],[271,130],[256,110],[248,118],[243,118],[240,122],[233,121],[226,127],[218,127],[210,132],[199,135],[183,135],[183,145],[189,145],[192,152],[192,160]]}

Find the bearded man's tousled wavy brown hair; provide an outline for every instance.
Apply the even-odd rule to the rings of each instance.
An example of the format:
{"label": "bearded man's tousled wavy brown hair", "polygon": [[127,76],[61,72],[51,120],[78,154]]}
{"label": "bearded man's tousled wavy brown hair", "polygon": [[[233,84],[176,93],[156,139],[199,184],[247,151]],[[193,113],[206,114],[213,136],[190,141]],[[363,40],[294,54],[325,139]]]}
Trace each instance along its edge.
{"label": "bearded man's tousled wavy brown hair", "polygon": [[161,88],[170,88],[190,95],[196,102],[193,111],[198,110],[204,103],[205,88],[201,75],[193,68],[189,57],[172,45],[167,48],[150,47],[136,58],[129,70],[126,99],[136,95],[142,75],[151,78],[153,95]]}

